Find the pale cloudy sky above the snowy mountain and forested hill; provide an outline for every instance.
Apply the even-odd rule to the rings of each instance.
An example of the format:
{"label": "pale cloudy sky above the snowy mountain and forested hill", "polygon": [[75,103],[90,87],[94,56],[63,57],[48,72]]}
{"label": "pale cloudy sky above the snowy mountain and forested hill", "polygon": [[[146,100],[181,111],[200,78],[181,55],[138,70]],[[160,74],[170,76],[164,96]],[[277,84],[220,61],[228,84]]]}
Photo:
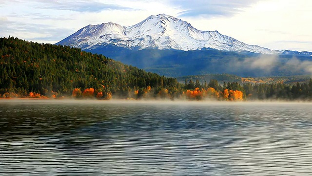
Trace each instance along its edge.
{"label": "pale cloudy sky above the snowy mountain and forested hill", "polygon": [[55,44],[88,24],[167,14],[273,50],[312,51],[312,0],[0,0],[0,37]]}

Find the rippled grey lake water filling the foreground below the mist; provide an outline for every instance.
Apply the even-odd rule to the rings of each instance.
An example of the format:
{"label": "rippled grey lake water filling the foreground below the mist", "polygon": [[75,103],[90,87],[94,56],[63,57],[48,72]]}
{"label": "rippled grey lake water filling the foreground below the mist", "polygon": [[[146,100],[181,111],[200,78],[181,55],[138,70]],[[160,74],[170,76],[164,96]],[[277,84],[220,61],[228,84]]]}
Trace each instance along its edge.
{"label": "rippled grey lake water filling the foreground below the mist", "polygon": [[0,100],[0,176],[309,176],[311,103]]}

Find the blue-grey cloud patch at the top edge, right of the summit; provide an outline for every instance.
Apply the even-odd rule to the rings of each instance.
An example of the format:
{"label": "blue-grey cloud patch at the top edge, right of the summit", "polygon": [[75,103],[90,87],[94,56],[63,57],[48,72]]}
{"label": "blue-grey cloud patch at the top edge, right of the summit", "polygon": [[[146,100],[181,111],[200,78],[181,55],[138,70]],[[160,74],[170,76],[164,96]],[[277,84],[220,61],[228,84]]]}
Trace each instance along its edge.
{"label": "blue-grey cloud patch at the top edge, right of the summit", "polygon": [[260,0],[171,0],[170,3],[182,9],[179,17],[215,17],[231,16],[257,1]]}

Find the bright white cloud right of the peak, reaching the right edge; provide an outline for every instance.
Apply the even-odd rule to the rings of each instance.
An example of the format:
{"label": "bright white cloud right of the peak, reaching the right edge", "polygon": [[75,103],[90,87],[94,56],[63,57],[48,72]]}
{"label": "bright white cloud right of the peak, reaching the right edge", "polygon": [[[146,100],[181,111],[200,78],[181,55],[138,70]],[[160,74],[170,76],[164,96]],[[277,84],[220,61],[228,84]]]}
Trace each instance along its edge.
{"label": "bright white cloud right of the peak, reaching the right edge", "polygon": [[265,0],[245,8],[232,17],[194,21],[193,26],[218,30],[247,44],[278,50],[312,50],[311,44],[278,41],[312,42],[312,1]]}

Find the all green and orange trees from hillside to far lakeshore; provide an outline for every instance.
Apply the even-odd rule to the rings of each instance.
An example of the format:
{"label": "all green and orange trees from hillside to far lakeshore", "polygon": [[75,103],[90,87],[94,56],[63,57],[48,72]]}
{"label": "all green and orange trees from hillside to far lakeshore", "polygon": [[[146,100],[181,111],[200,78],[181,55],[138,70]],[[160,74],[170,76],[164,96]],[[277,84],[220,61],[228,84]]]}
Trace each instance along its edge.
{"label": "all green and orange trees from hillside to far lakeshore", "polygon": [[0,38],[0,96],[98,99],[312,99],[309,83],[178,83],[78,48]]}

